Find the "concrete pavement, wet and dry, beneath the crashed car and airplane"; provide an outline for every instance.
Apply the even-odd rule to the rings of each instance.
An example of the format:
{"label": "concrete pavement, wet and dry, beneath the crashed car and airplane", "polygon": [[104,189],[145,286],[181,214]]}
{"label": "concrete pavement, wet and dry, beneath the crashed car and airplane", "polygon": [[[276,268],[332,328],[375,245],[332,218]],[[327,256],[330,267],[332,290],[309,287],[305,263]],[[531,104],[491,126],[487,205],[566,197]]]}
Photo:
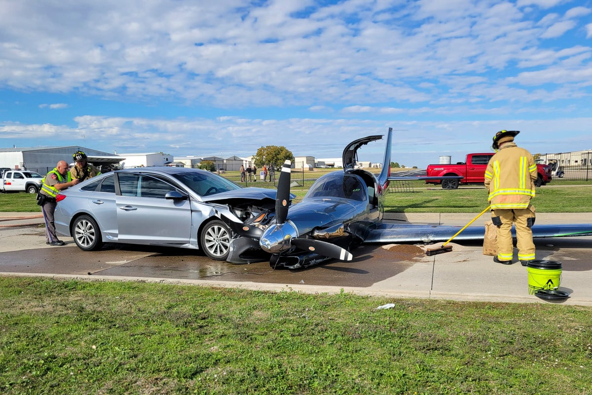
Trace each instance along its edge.
{"label": "concrete pavement, wet and dry, beneath the crashed car and airplane", "polygon": [[[472,214],[387,214],[401,223],[464,226]],[[7,217],[28,213],[0,213]],[[560,290],[570,297],[546,301],[528,294],[528,272],[522,265],[501,265],[482,255],[480,243],[452,242],[453,251],[425,256],[421,245],[363,246],[352,262],[330,262],[300,271],[273,271],[262,262],[232,265],[210,261],[195,251],[110,245],[83,252],[72,239],[64,247],[45,245],[43,219],[26,226],[0,228],[0,275],[41,275],[81,280],[157,281],[175,284],[339,293],[342,290],[383,297],[442,300],[562,303],[592,306],[592,237],[535,239],[536,258],[562,262]],[[475,221],[482,226],[487,214]],[[9,221],[1,221],[6,224]],[[538,224],[592,223],[592,213],[538,213]],[[536,226],[536,225],[535,225]],[[452,236],[452,235],[451,235]]]}

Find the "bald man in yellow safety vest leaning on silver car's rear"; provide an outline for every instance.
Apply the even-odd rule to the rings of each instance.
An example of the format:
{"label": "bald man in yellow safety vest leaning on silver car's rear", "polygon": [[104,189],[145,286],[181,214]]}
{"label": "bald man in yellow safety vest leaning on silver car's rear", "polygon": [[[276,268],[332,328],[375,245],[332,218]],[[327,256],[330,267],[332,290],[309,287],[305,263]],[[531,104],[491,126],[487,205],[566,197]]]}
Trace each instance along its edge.
{"label": "bald man in yellow safety vest leaning on silver car's rear", "polygon": [[43,179],[43,185],[41,185],[38,193],[43,219],[45,220],[45,243],[52,246],[64,245],[64,242],[57,238],[56,225],[53,220],[53,214],[56,211],[56,195],[61,190],[65,190],[80,182],[78,178],[72,179],[72,175],[68,171],[69,168],[70,166],[68,166],[65,160],[57,162],[56,167],[47,173]]}

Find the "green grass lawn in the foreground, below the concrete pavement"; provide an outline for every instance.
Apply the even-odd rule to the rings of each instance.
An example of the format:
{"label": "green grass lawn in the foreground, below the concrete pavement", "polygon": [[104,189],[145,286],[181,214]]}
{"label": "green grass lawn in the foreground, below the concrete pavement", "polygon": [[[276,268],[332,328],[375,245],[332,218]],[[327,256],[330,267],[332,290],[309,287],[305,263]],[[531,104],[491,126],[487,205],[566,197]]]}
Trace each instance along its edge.
{"label": "green grass lawn in the foreground, below the concrete pavement", "polygon": [[0,278],[0,390],[589,394],[590,328],[556,304]]}

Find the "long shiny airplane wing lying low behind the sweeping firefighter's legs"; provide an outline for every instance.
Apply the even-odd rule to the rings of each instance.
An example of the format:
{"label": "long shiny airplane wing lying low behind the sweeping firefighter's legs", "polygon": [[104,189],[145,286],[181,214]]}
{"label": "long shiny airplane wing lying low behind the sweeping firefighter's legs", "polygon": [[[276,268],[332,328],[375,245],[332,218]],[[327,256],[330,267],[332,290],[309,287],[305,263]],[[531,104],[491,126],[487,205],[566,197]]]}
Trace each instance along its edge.
{"label": "long shiny airplane wing lying low behind the sweeping firefighter's legs", "polygon": [[[462,229],[462,226],[379,223],[369,230],[365,243],[435,243],[445,242]],[[482,240],[484,226],[469,226],[454,238],[458,240]],[[512,236],[516,230],[512,227]],[[592,224],[535,224],[533,237],[592,236]]]}

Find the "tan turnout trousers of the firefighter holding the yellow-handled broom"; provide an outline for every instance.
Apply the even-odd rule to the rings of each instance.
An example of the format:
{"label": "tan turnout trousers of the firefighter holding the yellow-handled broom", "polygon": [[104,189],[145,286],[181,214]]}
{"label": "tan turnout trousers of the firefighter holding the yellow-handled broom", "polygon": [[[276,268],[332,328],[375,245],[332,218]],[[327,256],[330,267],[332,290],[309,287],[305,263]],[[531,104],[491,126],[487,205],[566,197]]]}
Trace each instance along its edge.
{"label": "tan turnout trousers of the firefighter holding the yellow-handled broom", "polygon": [[497,259],[511,261],[514,258],[512,241],[512,223],[516,227],[516,247],[519,261],[535,259],[535,243],[532,241],[532,229],[535,223],[535,208],[513,208],[493,210],[491,218],[497,226]]}

